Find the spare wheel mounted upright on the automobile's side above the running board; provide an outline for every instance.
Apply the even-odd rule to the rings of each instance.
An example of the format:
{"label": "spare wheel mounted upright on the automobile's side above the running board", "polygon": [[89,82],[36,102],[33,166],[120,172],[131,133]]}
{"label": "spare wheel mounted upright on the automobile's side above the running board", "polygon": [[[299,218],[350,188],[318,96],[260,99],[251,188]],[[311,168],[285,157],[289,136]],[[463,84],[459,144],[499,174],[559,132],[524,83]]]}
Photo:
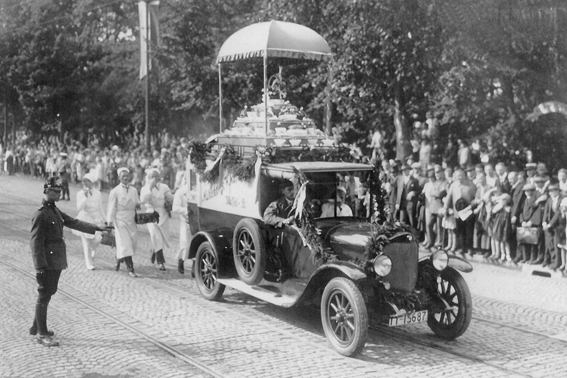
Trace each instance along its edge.
{"label": "spare wheel mounted upright on the automobile's side above the running board", "polygon": [[[242,242],[245,243],[244,248]],[[250,218],[241,219],[234,229],[232,255],[238,277],[248,284],[256,285],[266,271],[266,242],[260,226]]]}

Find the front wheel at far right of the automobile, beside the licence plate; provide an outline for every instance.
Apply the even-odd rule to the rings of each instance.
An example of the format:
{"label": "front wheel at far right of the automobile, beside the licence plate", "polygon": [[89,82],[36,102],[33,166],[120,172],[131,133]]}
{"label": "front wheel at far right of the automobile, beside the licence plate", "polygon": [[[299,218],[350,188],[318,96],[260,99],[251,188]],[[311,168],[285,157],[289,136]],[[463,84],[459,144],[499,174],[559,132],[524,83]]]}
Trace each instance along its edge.
{"label": "front wheel at far right of the automobile, beside the licence plate", "polygon": [[472,318],[472,297],[465,279],[455,269],[447,267],[441,272],[441,279],[441,283],[437,283],[438,295],[449,305],[456,306],[457,312],[451,311],[449,315],[445,315],[430,311],[427,325],[438,337],[454,340],[469,328]]}

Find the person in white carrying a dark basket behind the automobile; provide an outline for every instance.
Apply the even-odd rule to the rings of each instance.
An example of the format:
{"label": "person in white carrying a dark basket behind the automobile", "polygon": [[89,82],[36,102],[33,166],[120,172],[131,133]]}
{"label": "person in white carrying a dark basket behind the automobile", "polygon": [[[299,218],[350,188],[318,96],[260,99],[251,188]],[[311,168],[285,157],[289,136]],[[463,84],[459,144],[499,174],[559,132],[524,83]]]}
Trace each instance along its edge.
{"label": "person in white carrying a dark basket behind the automobile", "polygon": [[157,261],[159,270],[165,270],[164,248],[169,248],[169,218],[170,211],[166,209],[166,204],[173,204],[173,195],[169,186],[160,182],[161,177],[157,168],[150,168],[146,171],[146,185],[140,191],[140,201],[144,205],[146,213],[156,211],[159,214],[158,223],[148,223],[148,232],[152,242],[151,261]]}

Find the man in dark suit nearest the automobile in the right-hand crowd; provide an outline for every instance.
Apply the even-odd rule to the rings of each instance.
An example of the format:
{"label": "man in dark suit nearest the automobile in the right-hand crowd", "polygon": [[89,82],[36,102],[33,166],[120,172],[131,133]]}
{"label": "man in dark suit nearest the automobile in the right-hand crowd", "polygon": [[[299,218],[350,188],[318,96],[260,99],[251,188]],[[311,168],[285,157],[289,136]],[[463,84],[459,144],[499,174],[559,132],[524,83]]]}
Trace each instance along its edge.
{"label": "man in dark suit nearest the automobile in the right-hand crowd", "polygon": [[395,218],[411,227],[417,226],[415,211],[419,193],[419,183],[411,175],[411,167],[402,165],[402,174],[398,176],[392,188],[392,199],[395,201]]}

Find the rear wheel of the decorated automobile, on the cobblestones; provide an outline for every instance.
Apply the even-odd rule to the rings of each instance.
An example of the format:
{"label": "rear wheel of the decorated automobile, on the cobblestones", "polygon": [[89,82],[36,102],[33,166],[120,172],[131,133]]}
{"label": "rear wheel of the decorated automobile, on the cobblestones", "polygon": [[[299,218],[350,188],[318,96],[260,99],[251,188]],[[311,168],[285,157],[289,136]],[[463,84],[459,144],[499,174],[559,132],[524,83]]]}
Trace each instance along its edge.
{"label": "rear wheel of the decorated automobile, on the cobblestones", "polygon": [[195,265],[195,281],[199,292],[210,301],[218,301],[226,286],[218,281],[219,258],[209,242],[199,245]]}

